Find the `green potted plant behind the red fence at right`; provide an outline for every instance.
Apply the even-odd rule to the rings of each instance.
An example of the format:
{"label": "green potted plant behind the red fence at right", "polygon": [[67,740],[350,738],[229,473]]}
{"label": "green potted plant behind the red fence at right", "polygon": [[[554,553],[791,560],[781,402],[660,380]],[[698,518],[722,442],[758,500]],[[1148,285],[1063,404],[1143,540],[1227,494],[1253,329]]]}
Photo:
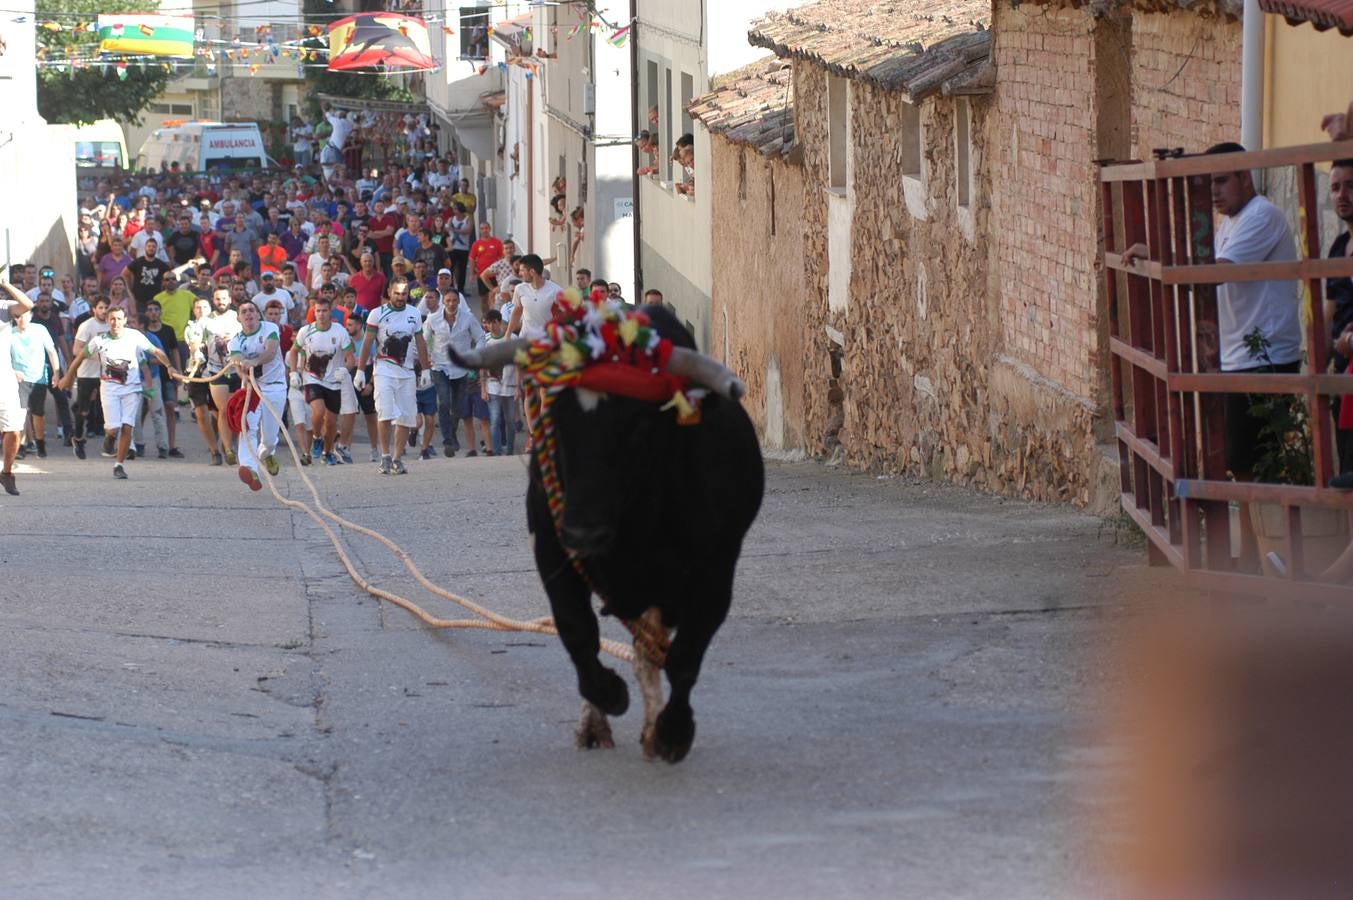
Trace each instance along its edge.
{"label": "green potted plant behind the red fence at right", "polygon": [[[1245,336],[1250,359],[1272,365],[1269,340],[1256,328]],[[1315,483],[1311,456],[1311,418],[1306,399],[1296,394],[1257,394],[1250,414],[1264,420],[1254,448],[1254,480],[1269,485]],[[1265,575],[1284,575],[1287,513],[1281,503],[1250,503],[1250,524],[1260,547]],[[1302,508],[1302,556],[1306,574],[1319,577],[1348,549],[1348,513],[1323,506]]]}

